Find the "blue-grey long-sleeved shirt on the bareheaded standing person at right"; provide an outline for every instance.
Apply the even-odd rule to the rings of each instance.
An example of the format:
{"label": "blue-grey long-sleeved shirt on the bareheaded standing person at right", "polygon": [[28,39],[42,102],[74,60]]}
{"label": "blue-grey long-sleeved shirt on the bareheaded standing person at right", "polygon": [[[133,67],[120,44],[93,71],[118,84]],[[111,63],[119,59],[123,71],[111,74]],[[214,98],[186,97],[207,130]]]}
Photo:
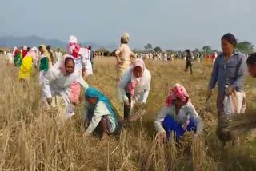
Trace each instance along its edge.
{"label": "blue-grey long-sleeved shirt on the bareheaded standing person at right", "polygon": [[236,91],[243,90],[245,74],[247,72],[246,55],[234,51],[234,54],[224,61],[224,54],[218,55],[211,74],[209,89],[214,89],[218,82],[218,93],[224,93],[225,86],[232,86]]}

